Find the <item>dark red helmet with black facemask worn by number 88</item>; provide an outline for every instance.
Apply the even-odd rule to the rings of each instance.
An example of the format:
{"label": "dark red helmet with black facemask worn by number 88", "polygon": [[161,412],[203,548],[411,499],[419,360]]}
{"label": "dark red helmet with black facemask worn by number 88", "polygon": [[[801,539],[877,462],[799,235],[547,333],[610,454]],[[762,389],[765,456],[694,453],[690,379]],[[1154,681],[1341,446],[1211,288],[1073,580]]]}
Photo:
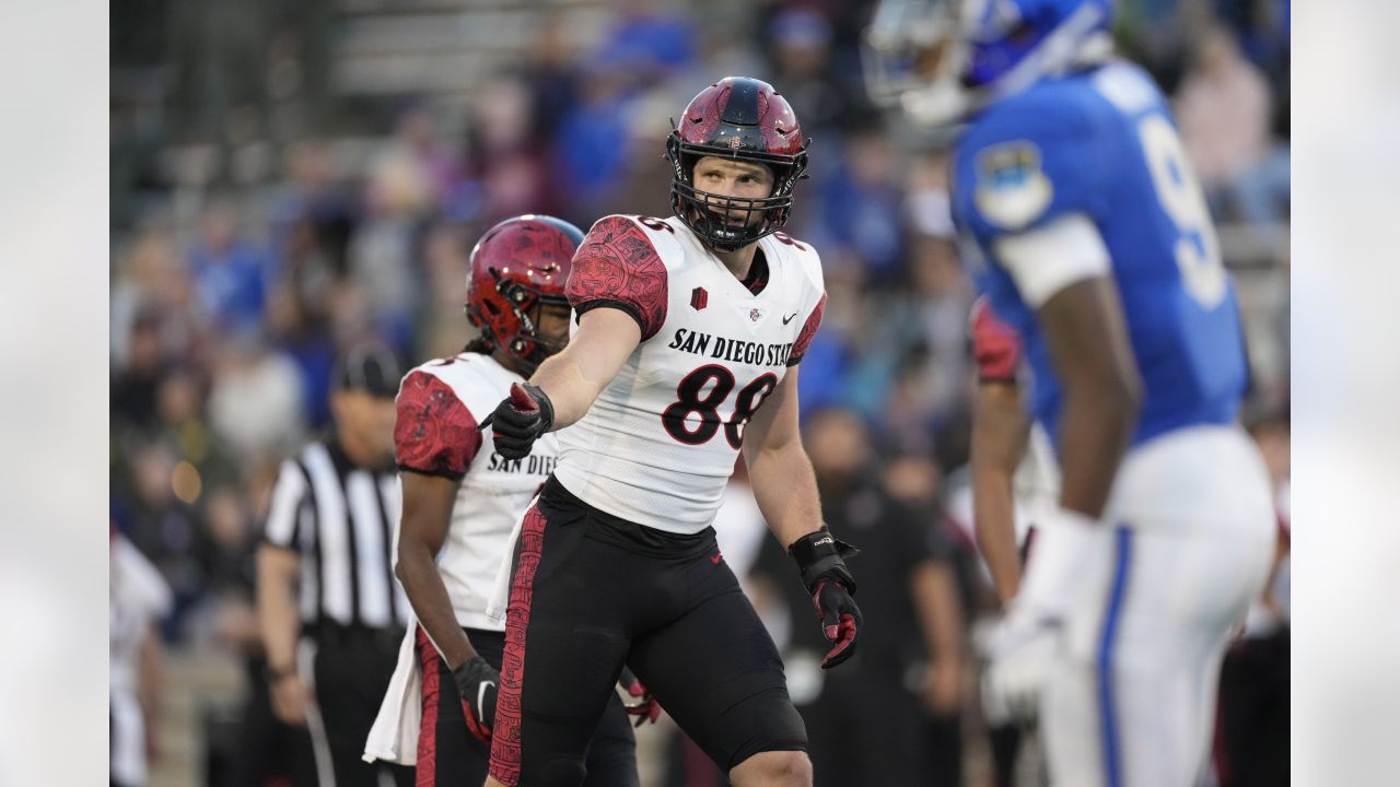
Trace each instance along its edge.
{"label": "dark red helmet with black facemask worn by number 88", "polygon": [[[806,141],[797,115],[773,85],[749,77],[725,77],[690,99],[680,125],[666,137],[671,161],[671,210],[720,251],[735,251],[774,232],[792,211],[792,186],[806,169]],[[694,165],[717,155],[763,164],[773,171],[773,193],[739,199],[694,188]],[[721,220],[727,211],[746,211],[742,225]],[[752,220],[753,214],[760,221]]]}

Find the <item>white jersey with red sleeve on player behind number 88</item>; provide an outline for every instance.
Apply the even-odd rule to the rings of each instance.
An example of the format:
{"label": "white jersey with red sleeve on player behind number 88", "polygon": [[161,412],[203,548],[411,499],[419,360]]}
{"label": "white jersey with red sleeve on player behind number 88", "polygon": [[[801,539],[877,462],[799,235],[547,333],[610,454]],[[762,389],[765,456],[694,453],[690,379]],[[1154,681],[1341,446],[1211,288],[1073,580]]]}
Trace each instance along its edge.
{"label": "white jersey with red sleeve on player behind number 88", "polygon": [[504,629],[486,613],[486,604],[507,559],[511,529],[559,457],[556,436],[546,434],[529,457],[504,459],[491,450],[490,433],[477,429],[512,382],[524,378],[490,356],[462,353],[417,367],[399,386],[393,434],[399,469],[461,482],[437,566],[456,622],[469,629]]}

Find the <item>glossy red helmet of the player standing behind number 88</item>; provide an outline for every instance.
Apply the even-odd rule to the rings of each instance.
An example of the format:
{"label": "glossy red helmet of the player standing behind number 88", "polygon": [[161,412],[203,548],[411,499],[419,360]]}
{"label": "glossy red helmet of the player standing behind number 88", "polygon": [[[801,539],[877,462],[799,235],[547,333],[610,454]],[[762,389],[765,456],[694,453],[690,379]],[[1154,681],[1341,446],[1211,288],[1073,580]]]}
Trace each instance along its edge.
{"label": "glossy red helmet of the player standing behind number 88", "polygon": [[482,329],[491,347],[500,347],[533,371],[564,342],[539,335],[540,305],[568,308],[568,283],[574,251],[584,234],[553,216],[517,216],[491,227],[472,249],[466,274],[466,319]]}

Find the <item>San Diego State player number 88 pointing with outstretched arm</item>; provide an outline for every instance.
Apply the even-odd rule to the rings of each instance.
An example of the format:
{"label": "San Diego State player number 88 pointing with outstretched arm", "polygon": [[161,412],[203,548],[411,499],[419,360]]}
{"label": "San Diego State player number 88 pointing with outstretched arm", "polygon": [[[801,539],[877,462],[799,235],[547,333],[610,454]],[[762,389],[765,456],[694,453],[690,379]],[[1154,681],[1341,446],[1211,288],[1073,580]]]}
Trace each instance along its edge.
{"label": "San Diego State player number 88 pointing with outstretched arm", "polygon": [[741,450],[832,641],[825,665],[854,650],[850,548],[822,527],[798,433],[797,364],[826,301],[816,252],[777,231],[806,165],[798,120],[767,83],[727,77],[666,157],[675,216],[594,224],[568,347],[491,415],[507,457],[561,431],[515,552],[487,784],[582,781],[624,661],[734,784],[812,783],[783,662],[710,527]]}

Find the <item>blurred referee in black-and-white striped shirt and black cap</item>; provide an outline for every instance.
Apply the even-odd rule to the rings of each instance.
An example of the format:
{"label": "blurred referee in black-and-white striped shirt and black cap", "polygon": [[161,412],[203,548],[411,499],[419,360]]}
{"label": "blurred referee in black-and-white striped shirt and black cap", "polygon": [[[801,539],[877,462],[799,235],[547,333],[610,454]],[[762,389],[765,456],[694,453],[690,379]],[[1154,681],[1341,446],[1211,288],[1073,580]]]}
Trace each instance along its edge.
{"label": "blurred referee in black-and-white striped shirt and black cap", "polygon": [[272,704],[280,720],[311,732],[315,787],[413,781],[412,769],[360,759],[409,615],[391,559],[399,377],[382,344],[340,358],[335,434],[283,462],[258,549]]}

